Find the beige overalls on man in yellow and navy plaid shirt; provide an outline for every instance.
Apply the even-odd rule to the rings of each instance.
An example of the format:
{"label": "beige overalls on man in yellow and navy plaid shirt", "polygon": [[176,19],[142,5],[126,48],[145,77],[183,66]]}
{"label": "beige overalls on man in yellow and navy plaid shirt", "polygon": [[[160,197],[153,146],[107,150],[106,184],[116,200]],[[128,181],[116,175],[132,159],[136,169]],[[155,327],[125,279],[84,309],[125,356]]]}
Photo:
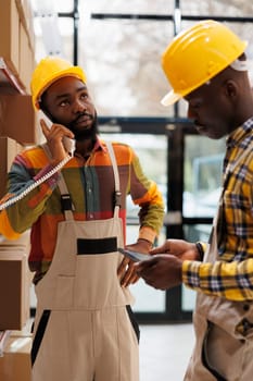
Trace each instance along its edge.
{"label": "beige overalls on man in yellow and navy plaid shirt", "polygon": [[[229,171],[236,164],[230,165]],[[227,176],[228,171],[226,180]],[[204,256],[205,262],[218,260],[216,228],[217,221],[223,218],[222,198],[223,195],[214,220],[211,244]],[[253,380],[252,300],[233,302],[198,293],[193,322],[197,342],[185,381]]]}

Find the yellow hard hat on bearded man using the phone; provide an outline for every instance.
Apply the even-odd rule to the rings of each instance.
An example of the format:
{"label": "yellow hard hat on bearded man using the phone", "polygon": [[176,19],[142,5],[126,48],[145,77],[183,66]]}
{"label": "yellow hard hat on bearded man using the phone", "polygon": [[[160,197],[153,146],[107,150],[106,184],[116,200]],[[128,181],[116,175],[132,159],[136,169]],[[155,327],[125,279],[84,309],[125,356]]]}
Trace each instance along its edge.
{"label": "yellow hard hat on bearded man using the phone", "polygon": [[62,58],[46,57],[38,63],[30,81],[30,90],[35,109],[40,109],[39,100],[43,91],[55,81],[64,76],[74,76],[84,83],[86,82],[86,75],[83,69],[74,66]]}

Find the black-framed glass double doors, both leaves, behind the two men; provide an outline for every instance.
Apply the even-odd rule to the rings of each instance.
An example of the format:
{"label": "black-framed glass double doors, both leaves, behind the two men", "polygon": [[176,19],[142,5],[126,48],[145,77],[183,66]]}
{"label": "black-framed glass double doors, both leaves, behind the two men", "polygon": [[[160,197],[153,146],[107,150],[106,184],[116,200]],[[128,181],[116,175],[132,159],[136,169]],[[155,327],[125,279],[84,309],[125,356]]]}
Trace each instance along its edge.
{"label": "black-framed glass double doors, both leaves, behind the two men", "polygon": [[[207,241],[220,190],[225,142],[198,135],[188,121],[166,124],[161,120],[159,134],[152,128],[144,133],[143,124],[138,121],[132,128],[129,119],[128,126],[117,131],[114,125],[112,132],[101,135],[104,139],[129,144],[146,174],[159,184],[166,214],[157,245],[166,238]],[[105,126],[101,130],[106,131]],[[127,243],[130,244],[138,236],[138,207],[129,198],[127,208]],[[164,292],[140,280],[131,286],[131,292],[136,297],[134,310],[142,323],[191,320],[195,293],[185,286]]]}

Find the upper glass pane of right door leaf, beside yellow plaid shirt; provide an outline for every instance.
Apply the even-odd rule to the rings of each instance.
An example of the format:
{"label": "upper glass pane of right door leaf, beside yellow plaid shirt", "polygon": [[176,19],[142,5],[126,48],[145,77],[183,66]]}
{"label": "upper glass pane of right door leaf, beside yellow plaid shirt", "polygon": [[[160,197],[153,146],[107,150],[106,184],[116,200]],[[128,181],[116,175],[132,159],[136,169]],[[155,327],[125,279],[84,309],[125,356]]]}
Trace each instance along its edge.
{"label": "upper glass pane of right door leaf, beside yellow plaid shirt", "polygon": [[185,217],[214,217],[222,184],[225,140],[205,136],[186,137]]}

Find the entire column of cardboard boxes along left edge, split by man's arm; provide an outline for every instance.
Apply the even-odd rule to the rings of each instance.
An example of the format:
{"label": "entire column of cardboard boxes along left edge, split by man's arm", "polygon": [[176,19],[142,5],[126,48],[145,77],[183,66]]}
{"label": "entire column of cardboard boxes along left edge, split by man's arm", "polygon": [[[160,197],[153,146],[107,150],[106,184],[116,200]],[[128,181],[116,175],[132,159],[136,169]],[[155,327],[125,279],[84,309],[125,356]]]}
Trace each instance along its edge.
{"label": "entire column of cardboard boxes along left edge, split by man's arm", "polygon": [[[29,82],[35,67],[29,0],[0,0],[0,197],[18,151],[38,143]],[[0,235],[0,331],[10,331],[0,357],[0,380],[30,380],[29,318],[31,276],[27,267],[29,232],[17,241]]]}

